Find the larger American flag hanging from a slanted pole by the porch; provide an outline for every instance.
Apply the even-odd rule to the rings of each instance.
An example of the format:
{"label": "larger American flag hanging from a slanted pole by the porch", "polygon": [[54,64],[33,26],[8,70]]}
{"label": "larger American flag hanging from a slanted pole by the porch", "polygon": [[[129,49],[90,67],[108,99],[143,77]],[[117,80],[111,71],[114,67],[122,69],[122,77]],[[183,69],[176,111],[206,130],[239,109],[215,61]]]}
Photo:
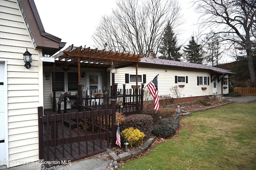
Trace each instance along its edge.
{"label": "larger American flag hanging from a slanted pole by the porch", "polygon": [[[157,75],[158,76],[158,75]],[[159,110],[159,96],[158,96],[158,83],[157,83],[157,76],[148,84],[148,90],[152,94],[155,102],[154,102],[154,109]]]}

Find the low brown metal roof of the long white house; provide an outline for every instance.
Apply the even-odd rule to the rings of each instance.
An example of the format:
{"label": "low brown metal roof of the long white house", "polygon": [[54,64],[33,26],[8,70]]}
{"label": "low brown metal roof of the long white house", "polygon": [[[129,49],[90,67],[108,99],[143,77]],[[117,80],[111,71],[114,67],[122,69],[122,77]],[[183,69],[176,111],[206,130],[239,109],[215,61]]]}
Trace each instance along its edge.
{"label": "low brown metal roof of the long white house", "polygon": [[196,70],[208,70],[210,72],[215,72],[216,74],[226,74],[226,75],[236,75],[236,73],[225,70],[222,68],[217,68],[213,66],[207,66],[204,64],[195,64],[195,63],[186,63],[180,61],[164,60],[164,59],[151,59],[143,58],[140,61],[140,64],[153,65],[153,66],[166,66],[166,67],[178,67],[178,68],[187,68],[187,69],[196,69]]}

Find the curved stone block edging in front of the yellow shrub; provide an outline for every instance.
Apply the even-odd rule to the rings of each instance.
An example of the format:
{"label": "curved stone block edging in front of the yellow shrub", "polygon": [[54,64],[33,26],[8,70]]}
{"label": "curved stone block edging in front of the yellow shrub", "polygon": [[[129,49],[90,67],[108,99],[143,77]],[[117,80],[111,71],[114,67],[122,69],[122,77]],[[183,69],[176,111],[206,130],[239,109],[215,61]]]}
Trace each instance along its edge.
{"label": "curved stone block edging in front of the yellow shrub", "polygon": [[124,152],[121,154],[116,154],[116,152],[113,149],[107,149],[108,152],[108,156],[117,162],[120,162],[122,160],[126,160],[126,159],[130,159],[130,158],[134,158],[135,156],[138,156],[139,154],[141,154],[142,152],[145,152],[155,141],[156,136],[151,137],[150,139],[148,139],[148,141],[146,141],[143,145],[141,145],[140,147],[138,147],[137,149],[128,151],[128,152]]}

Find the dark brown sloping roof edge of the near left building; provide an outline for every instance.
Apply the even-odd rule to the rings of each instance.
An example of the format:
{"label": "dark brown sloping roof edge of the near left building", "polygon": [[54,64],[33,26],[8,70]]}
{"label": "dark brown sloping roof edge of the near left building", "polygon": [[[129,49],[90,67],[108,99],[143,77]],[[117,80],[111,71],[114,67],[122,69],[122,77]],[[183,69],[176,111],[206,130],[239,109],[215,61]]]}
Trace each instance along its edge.
{"label": "dark brown sloping roof edge of the near left building", "polygon": [[34,0],[18,0],[18,4],[34,46],[42,49],[43,55],[54,55],[66,45],[60,38],[44,31]]}

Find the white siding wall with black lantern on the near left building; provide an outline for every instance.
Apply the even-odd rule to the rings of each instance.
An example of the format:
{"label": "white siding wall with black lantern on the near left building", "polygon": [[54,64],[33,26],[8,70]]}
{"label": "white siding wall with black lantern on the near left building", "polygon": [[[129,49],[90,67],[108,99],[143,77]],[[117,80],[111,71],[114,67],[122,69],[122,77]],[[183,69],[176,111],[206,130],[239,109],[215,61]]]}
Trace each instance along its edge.
{"label": "white siding wall with black lantern on the near left building", "polygon": [[[24,67],[23,53],[32,54],[31,68]],[[38,110],[43,103],[42,51],[34,49],[16,0],[0,1],[0,59],[7,60],[8,158],[14,161],[38,160]],[[40,76],[39,76],[40,75]],[[42,84],[42,83],[41,83]],[[42,106],[42,105],[41,105]]]}

